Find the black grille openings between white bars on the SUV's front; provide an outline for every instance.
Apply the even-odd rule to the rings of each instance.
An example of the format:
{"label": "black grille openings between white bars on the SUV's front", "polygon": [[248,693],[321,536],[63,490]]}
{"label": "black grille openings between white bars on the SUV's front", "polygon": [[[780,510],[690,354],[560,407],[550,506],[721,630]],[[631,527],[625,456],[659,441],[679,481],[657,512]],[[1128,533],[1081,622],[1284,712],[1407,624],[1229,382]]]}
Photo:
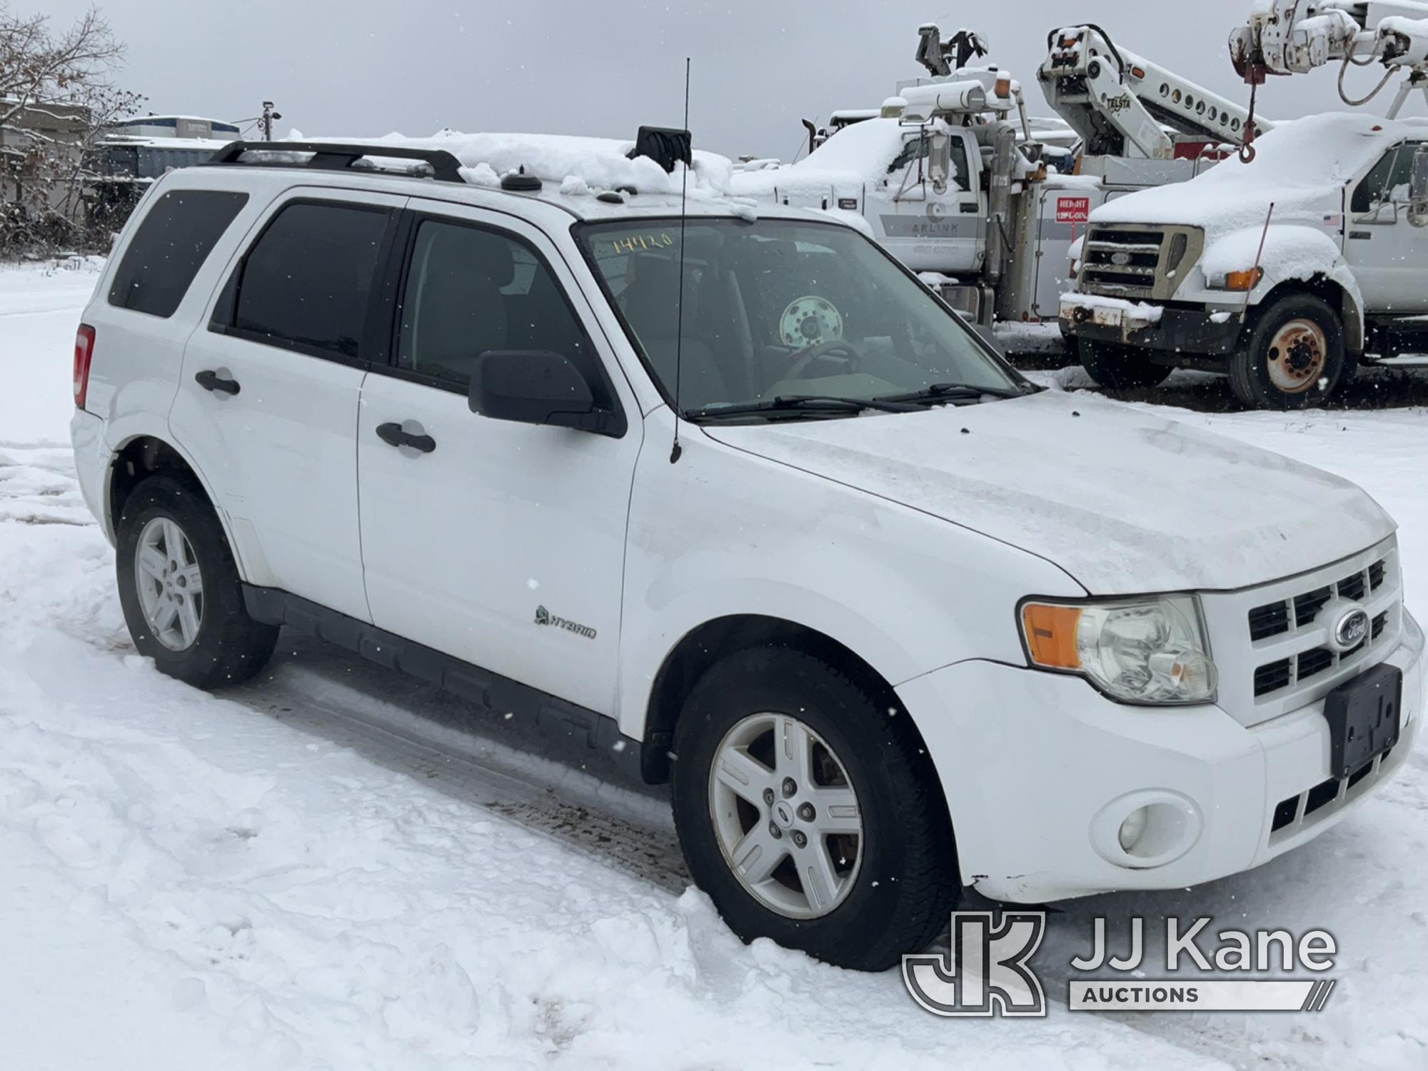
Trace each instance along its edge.
{"label": "black grille openings between white bars on the SUV's front", "polygon": [[[1261,643],[1281,635],[1302,633],[1318,621],[1319,611],[1331,598],[1361,603],[1369,593],[1384,587],[1387,558],[1377,558],[1364,568],[1355,568],[1332,584],[1314,587],[1288,598],[1254,607],[1248,614],[1250,640]],[[1388,611],[1372,618],[1368,638],[1342,654],[1327,645],[1315,645],[1292,657],[1274,658],[1255,667],[1254,697],[1262,698],[1298,683],[1319,677],[1335,665],[1355,661],[1364,648],[1378,640],[1388,625]]]}

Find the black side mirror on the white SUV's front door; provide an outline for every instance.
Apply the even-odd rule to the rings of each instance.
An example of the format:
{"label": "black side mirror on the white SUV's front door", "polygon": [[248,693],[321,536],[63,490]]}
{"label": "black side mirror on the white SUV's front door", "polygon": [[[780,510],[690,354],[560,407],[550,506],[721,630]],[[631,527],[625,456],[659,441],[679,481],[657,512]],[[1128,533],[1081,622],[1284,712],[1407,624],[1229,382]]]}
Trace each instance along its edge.
{"label": "black side mirror on the white SUV's front door", "polygon": [[487,350],[476,358],[467,401],[473,413],[491,420],[624,434],[617,414],[595,408],[590,383],[574,363],[550,350]]}

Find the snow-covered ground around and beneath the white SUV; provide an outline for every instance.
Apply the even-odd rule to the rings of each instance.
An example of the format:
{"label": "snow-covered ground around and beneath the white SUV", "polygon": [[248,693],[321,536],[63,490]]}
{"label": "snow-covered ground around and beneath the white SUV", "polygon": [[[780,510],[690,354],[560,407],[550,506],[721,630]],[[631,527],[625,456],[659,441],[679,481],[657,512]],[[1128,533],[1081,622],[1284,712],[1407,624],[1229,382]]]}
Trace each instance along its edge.
{"label": "snow-covered ground around and beneath the white SUV", "polygon": [[[306,641],[223,698],[160,677],[66,446],[93,281],[0,266],[0,1067],[1428,1067],[1422,754],[1254,874],[1062,905],[1048,1020],[942,1021],[897,972],[741,945],[687,888],[658,797],[476,733],[424,685]],[[1175,416],[1364,484],[1428,607],[1428,411]],[[1131,914],[1327,928],[1334,1000],[1068,1012],[1088,920]]]}

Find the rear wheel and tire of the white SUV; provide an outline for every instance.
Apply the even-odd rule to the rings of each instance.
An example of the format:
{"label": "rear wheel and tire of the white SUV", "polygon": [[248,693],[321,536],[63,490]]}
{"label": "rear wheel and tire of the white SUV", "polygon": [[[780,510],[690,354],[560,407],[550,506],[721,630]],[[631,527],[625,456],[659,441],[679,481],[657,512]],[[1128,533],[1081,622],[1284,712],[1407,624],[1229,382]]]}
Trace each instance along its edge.
{"label": "rear wheel and tire of the white SUV", "polygon": [[114,534],[124,621],[160,673],[211,690],[267,664],[278,630],[248,617],[228,540],[196,484],[149,477],[126,500]]}

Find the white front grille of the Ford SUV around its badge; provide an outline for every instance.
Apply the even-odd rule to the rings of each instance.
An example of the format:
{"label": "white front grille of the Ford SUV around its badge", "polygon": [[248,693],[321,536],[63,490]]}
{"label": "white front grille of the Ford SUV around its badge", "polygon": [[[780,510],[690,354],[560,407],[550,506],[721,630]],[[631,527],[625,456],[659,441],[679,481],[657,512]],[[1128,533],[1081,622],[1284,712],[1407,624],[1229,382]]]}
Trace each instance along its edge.
{"label": "white front grille of the Ford SUV around its badge", "polygon": [[[1322,698],[1388,657],[1402,631],[1392,538],[1301,577],[1201,598],[1220,670],[1220,704],[1247,725]],[[1369,614],[1368,635],[1351,651],[1335,648],[1329,635],[1335,621],[1321,613],[1335,598]]]}

